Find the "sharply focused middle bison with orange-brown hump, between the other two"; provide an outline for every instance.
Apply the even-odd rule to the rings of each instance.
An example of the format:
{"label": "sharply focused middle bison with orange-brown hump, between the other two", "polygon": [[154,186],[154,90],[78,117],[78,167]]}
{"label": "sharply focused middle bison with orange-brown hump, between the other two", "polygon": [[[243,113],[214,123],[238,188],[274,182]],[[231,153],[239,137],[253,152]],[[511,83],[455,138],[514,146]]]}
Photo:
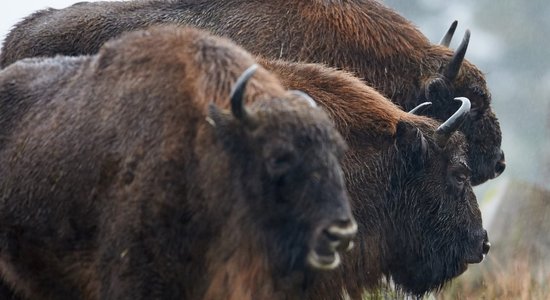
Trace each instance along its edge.
{"label": "sharply focused middle bison with orange-brown hump, between the other two", "polygon": [[[443,124],[402,111],[349,73],[259,59],[289,89],[311,95],[349,145],[346,184],[359,230],[338,274],[322,274],[310,299],[363,299],[384,275],[408,293],[442,287],[489,251],[472,191],[466,140],[455,132],[469,101]],[[416,109],[418,111],[420,107]]]}

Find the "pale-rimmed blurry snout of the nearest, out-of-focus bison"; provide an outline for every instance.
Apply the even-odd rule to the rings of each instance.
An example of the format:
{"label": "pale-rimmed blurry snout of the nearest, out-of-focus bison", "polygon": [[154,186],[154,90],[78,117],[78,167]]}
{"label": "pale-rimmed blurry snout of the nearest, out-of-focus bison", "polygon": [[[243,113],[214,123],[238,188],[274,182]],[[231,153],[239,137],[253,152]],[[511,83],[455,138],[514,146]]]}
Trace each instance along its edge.
{"label": "pale-rimmed blurry snout of the nearest, out-of-focus bison", "polygon": [[353,219],[337,221],[318,232],[308,253],[307,263],[314,269],[334,269],[341,261],[338,252],[353,248],[352,239],[357,233],[357,223]]}

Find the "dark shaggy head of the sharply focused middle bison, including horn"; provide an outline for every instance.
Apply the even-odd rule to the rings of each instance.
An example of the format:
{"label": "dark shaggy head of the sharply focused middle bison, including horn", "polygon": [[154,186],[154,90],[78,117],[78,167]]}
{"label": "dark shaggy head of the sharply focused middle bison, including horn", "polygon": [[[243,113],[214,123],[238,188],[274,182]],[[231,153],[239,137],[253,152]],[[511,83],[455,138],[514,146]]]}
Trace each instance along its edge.
{"label": "dark shaggy head of the sharply focused middle bison, including horn", "polygon": [[390,178],[393,194],[384,207],[389,225],[388,270],[407,292],[440,288],[479,263],[490,244],[470,184],[464,136],[470,102],[436,128],[427,119],[401,121],[396,130],[400,169]]}

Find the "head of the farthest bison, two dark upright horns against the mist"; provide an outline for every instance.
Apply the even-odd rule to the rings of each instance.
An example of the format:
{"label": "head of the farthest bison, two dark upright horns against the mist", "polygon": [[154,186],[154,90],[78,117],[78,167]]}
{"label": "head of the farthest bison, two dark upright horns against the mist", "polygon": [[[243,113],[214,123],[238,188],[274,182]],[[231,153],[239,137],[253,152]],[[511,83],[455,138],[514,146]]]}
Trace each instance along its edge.
{"label": "head of the farthest bison, two dark upright horns against the mist", "polygon": [[433,47],[430,57],[444,57],[434,61],[439,73],[424,82],[420,99],[433,102],[438,117],[450,116],[458,107],[452,99],[466,97],[472,101],[472,110],[461,131],[468,143],[468,164],[472,168],[471,183],[481,184],[499,176],[505,169],[504,152],[500,149],[502,133],[498,120],[491,110],[491,95],[483,74],[474,65],[464,61],[470,40],[467,30],[455,53],[446,46],[450,43],[456,21],[442,39],[445,47]]}

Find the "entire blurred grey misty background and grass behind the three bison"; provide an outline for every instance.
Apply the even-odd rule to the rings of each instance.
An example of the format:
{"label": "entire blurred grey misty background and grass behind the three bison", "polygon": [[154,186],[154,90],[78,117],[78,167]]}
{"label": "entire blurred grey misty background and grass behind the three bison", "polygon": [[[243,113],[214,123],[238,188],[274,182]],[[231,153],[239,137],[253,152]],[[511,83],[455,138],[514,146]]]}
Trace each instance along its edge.
{"label": "entire blurred grey misty background and grass behind the three bison", "polygon": [[[0,41],[24,16],[75,2],[2,3]],[[454,20],[458,29],[451,47],[471,30],[466,58],[485,72],[503,131],[506,171],[475,189],[491,252],[433,297],[550,299],[550,1],[383,2],[434,43]]]}

